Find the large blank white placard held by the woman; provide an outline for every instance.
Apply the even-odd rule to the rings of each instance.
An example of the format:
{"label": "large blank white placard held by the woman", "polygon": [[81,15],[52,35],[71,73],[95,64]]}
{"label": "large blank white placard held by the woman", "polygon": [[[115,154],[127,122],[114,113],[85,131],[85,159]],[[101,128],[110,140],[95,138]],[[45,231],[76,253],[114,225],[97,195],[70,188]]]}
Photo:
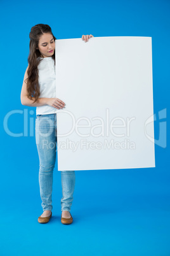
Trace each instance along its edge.
{"label": "large blank white placard held by the woman", "polygon": [[155,167],[152,38],[56,39],[55,54],[58,171]]}

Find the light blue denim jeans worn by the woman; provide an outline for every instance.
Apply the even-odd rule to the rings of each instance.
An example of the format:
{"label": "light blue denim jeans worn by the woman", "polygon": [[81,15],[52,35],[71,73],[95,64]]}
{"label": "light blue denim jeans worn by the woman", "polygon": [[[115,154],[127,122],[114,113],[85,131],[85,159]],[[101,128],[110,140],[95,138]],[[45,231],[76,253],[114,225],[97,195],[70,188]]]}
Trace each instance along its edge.
{"label": "light blue denim jeans worn by the woman", "polygon": [[[53,169],[56,160],[56,113],[36,115],[36,145],[39,155],[39,188],[42,210],[52,210]],[[61,171],[62,211],[72,206],[75,171]]]}

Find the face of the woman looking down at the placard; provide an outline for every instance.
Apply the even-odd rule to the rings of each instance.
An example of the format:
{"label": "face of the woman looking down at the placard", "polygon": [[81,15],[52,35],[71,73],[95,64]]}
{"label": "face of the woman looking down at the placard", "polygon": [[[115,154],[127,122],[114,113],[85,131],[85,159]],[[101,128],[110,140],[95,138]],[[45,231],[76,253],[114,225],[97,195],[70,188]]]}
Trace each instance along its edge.
{"label": "face of the woman looking down at the placard", "polygon": [[39,38],[38,49],[42,58],[51,57],[55,52],[55,39],[53,36],[49,33],[42,34]]}

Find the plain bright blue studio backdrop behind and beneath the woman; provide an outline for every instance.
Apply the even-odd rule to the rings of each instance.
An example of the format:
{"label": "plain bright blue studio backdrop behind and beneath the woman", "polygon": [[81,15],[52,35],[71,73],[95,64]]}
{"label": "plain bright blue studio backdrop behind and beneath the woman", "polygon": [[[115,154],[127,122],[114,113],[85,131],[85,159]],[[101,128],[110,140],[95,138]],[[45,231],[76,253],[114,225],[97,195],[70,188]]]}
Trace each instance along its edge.
{"label": "plain bright blue studio backdrop behind and beneath the woman", "polygon": [[[159,121],[158,112],[166,109],[169,115],[169,11],[166,0],[1,1],[1,255],[170,255],[168,134],[166,148],[155,145],[155,168],[76,171],[72,225],[60,222],[62,187],[55,167],[53,217],[41,225],[35,136],[12,137],[3,127],[12,110],[28,111],[28,121],[35,122],[36,108],[22,106],[20,92],[29,32],[43,23],[57,39],[152,37],[159,139],[159,122],[167,118]],[[8,127],[23,132],[23,114],[12,115]]]}

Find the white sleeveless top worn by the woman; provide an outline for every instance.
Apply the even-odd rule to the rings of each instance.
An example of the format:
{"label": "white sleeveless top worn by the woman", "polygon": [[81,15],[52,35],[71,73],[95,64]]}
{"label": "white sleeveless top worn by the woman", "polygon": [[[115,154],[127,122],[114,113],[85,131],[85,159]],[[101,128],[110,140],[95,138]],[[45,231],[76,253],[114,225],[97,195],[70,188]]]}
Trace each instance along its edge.
{"label": "white sleeveless top worn by the woman", "polygon": [[[46,98],[56,97],[56,75],[55,75],[55,60],[52,57],[41,58],[39,62],[39,87],[40,96]],[[36,115],[46,115],[56,113],[56,108],[44,105],[36,107]]]}

